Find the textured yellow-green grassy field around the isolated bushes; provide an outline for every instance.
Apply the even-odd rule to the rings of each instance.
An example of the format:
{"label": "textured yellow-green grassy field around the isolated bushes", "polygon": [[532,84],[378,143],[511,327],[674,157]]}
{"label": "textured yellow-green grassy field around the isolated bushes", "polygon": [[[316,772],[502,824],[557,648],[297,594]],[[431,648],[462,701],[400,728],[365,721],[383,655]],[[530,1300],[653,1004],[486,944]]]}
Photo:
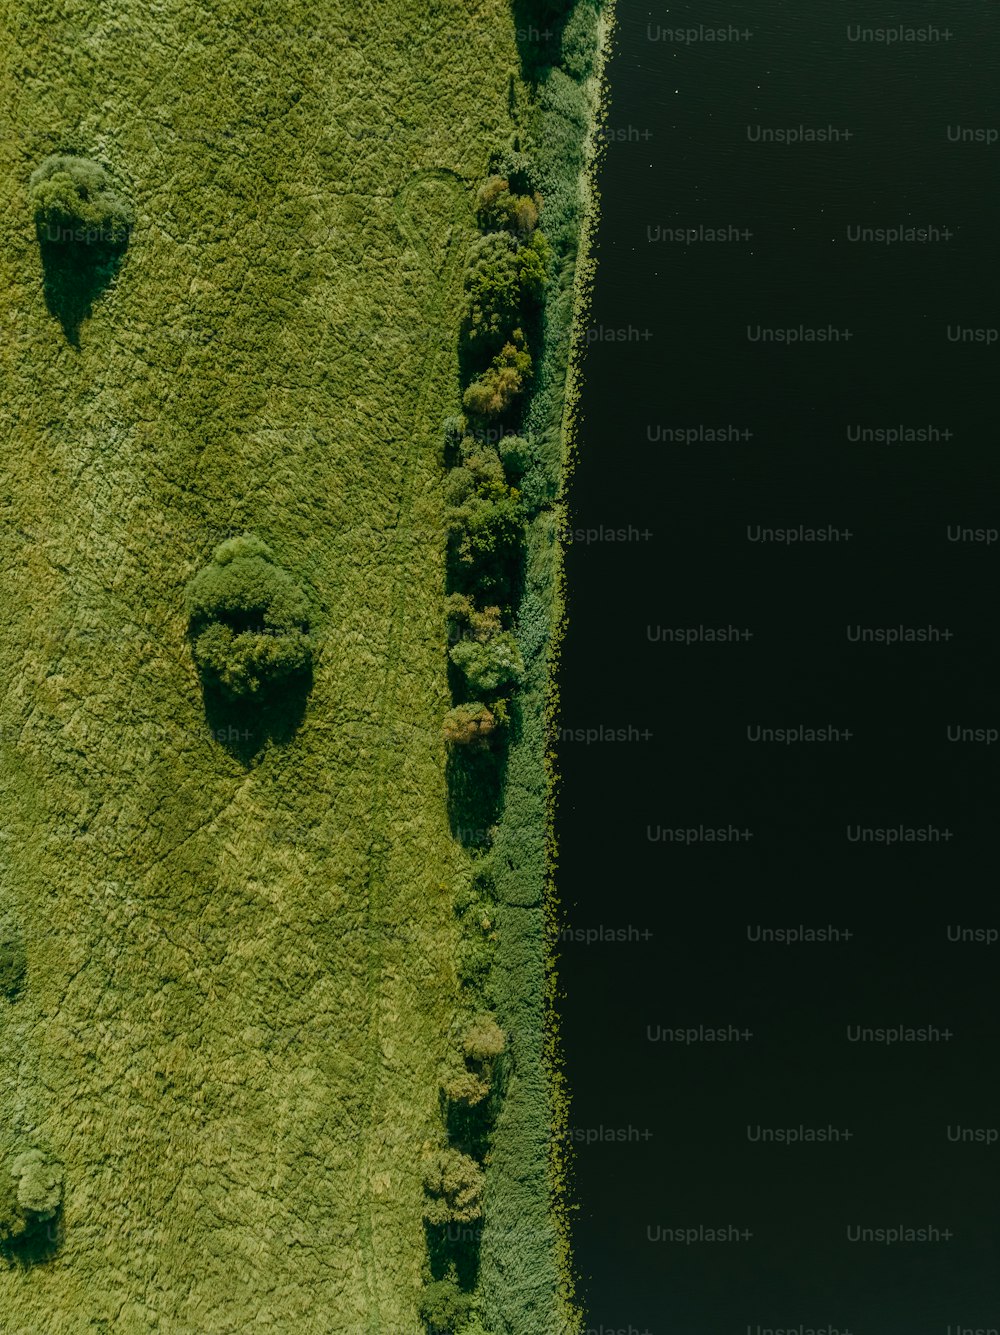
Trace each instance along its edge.
{"label": "textured yellow-green grassy field around the isolated bushes", "polygon": [[[422,1330],[467,868],[441,422],[470,188],[534,95],[506,0],[267,13],[4,5],[0,1157],[65,1168],[5,1335]],[[67,338],[27,178],[77,144],[138,222]],[[183,605],[242,531],[318,642],[256,754],[211,733]],[[517,1327],[483,1248],[489,1328],[555,1330],[557,1263]]]}

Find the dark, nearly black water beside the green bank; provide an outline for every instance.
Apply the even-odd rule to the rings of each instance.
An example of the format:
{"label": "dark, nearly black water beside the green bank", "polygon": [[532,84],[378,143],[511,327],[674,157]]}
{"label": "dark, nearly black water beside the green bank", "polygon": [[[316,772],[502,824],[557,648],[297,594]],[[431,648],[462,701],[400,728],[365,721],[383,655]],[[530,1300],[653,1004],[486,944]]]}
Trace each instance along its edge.
{"label": "dark, nearly black water beside the green bank", "polygon": [[[587,1328],[996,1330],[1000,4],[742,8],[619,0],[610,69],[573,507],[625,537],[570,549],[562,680],[625,730],[562,744]],[[800,726],[840,740],[757,740]],[[850,936],[749,940],[800,925]]]}

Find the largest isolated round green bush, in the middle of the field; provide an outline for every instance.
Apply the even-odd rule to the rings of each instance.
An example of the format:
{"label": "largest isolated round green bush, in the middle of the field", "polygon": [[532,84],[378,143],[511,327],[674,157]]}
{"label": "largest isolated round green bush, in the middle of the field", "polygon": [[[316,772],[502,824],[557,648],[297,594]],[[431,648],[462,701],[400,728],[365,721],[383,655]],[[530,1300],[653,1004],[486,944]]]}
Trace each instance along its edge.
{"label": "largest isolated round green bush, in the middle of the field", "polygon": [[231,698],[260,696],[308,668],[306,594],[259,538],[223,542],[186,597],[198,669]]}

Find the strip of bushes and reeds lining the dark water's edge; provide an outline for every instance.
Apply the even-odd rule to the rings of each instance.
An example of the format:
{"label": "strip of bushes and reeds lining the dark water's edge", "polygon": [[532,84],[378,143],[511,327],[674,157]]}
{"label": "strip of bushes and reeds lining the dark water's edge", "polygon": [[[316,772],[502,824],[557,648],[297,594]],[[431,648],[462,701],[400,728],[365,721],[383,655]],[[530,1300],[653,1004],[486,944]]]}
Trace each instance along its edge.
{"label": "strip of bushes and reeds lining the dark water's edge", "polygon": [[[475,706],[487,714],[487,728],[494,736],[499,733],[498,741],[483,745],[478,734],[482,714],[474,720],[469,712],[469,676],[457,682],[455,714],[466,709],[457,724],[466,732],[451,745],[453,822],[473,853],[470,888],[459,913],[463,940],[471,936],[478,947],[485,933],[494,943],[489,969],[479,977],[469,971],[466,985],[481,992],[509,1048],[498,1063],[499,1097],[487,1113],[491,1125],[485,1140],[482,1224],[465,1232],[458,1226],[455,1236],[474,1242],[478,1307],[487,1331],[562,1335],[578,1330],[582,1318],[569,1243],[571,1165],[555,959],[553,814],[558,776],[547,741],[558,734],[563,495],[574,446],[581,330],[594,264],[594,174],[613,11],[579,0],[562,12],[543,9],[535,21],[545,36],[529,25],[533,40],[522,45],[534,100],[521,120],[514,152],[494,156],[479,192],[478,222],[485,238],[475,243],[470,263],[463,327],[463,374],[471,376],[471,386],[463,399],[465,418],[449,423],[446,443],[453,505],[467,505],[470,491],[478,490],[498,506],[497,541],[483,543],[487,554],[479,558],[471,581],[469,567],[462,567],[467,551],[459,551],[459,561],[451,563],[451,659],[478,665],[486,655],[470,642],[502,645],[507,610],[515,642],[509,690],[493,684],[499,709],[481,702]],[[554,52],[558,59],[553,59]],[[514,244],[491,240],[498,228],[513,232]],[[521,263],[527,310],[507,308],[505,315],[490,300],[485,283],[498,280],[489,263],[499,254]],[[537,264],[545,264],[546,275],[543,300],[533,308]],[[510,290],[517,280],[503,286]],[[494,387],[491,367],[483,374],[482,362],[498,344],[501,352],[491,367],[505,354],[507,364],[521,351],[534,358],[533,364],[522,363],[531,372],[530,394],[510,409],[497,394],[485,405],[482,391],[483,379]],[[498,494],[497,479],[514,483],[511,491],[525,525],[514,562],[513,553],[503,554],[501,537],[501,511],[510,493]],[[459,546],[463,523],[465,517],[459,517]],[[498,553],[499,567],[494,563]],[[507,585],[511,566],[517,575]],[[483,617],[497,629],[483,625]],[[510,662],[506,654],[497,657]],[[510,689],[514,684],[515,690]]]}

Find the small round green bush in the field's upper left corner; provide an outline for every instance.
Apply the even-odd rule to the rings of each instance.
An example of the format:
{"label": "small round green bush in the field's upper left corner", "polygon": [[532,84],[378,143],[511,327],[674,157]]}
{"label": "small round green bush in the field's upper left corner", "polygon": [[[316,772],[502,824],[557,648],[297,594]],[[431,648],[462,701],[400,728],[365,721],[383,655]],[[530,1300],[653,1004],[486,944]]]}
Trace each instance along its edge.
{"label": "small round green bush in the field's upper left corner", "polygon": [[121,248],[132,211],[108,174],[89,158],[55,154],[31,174],[31,206],[39,238],[59,246]]}

